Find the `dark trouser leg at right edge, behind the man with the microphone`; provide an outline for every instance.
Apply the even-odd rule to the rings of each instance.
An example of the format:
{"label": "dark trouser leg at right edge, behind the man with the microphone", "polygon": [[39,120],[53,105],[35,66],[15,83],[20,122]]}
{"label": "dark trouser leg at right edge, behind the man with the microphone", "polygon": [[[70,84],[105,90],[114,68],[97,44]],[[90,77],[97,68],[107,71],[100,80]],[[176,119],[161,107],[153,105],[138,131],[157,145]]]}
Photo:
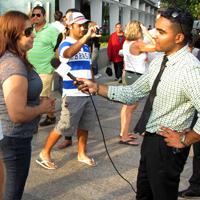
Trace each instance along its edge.
{"label": "dark trouser leg at right edge, behind the man with the microphone", "polygon": [[200,195],[200,142],[193,144],[193,174],[189,180],[190,189],[197,195]]}

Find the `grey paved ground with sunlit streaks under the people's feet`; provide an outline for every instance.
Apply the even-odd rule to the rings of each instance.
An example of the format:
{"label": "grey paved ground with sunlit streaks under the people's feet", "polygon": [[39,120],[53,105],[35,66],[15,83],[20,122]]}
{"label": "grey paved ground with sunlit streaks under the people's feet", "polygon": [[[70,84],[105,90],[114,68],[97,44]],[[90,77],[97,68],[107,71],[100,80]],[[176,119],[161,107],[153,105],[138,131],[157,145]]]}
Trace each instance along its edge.
{"label": "grey paved ground with sunlit streaks under the people's feet", "polygon": [[[107,85],[120,85],[114,76],[108,77],[105,69],[99,71],[103,76],[97,82]],[[58,91],[52,93],[57,98],[56,117],[59,119],[61,98]],[[144,100],[133,114],[130,130],[138,121],[143,110]],[[140,158],[142,137],[138,136],[139,146],[133,147],[119,144],[120,110],[122,105],[109,103],[98,97],[98,115],[106,140],[106,146],[115,167],[121,175],[136,188],[136,177]],[[40,127],[32,141],[32,159],[30,173],[26,183],[23,200],[133,200],[135,193],[131,186],[115,171],[106,153],[102,133],[96,122],[94,132],[89,134],[87,154],[99,162],[98,167],[90,167],[77,161],[77,137],[73,136],[73,145],[60,150],[57,145],[52,149],[52,158],[58,165],[56,170],[46,170],[35,160],[43,149],[46,139],[54,125]],[[192,174],[192,152],[181,175],[180,189],[188,187],[188,179]],[[156,176],[156,172],[155,172]]]}

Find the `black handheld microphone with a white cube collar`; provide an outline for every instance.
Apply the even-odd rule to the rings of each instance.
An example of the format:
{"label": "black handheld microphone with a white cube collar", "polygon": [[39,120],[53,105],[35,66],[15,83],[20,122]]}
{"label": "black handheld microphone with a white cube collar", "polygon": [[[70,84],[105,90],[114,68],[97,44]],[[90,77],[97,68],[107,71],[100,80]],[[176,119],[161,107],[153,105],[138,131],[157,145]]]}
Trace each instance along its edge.
{"label": "black handheld microphone with a white cube collar", "polygon": [[73,81],[76,81],[78,85],[81,85],[82,82],[81,81],[77,81],[76,77],[73,76],[69,71],[71,69],[71,67],[66,64],[66,63],[61,63],[60,60],[58,58],[52,58],[51,59],[51,66],[53,68],[56,69],[56,72],[60,75],[60,76],[64,76],[65,74],[67,74],[67,76],[69,76]]}

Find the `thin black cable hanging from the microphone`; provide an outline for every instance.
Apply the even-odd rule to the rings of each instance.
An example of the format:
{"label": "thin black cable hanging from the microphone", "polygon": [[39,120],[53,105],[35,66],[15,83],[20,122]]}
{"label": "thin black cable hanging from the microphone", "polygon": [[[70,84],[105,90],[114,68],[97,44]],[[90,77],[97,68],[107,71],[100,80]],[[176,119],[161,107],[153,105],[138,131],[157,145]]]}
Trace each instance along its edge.
{"label": "thin black cable hanging from the microphone", "polygon": [[[88,92],[89,92],[89,90],[88,90]],[[90,98],[91,98],[91,100],[92,100],[92,104],[93,104],[93,106],[94,106],[94,110],[95,110],[95,113],[96,113],[96,116],[97,116],[97,120],[98,120],[98,123],[99,123],[99,127],[100,127],[100,130],[101,130],[101,134],[102,134],[102,137],[103,137],[104,146],[105,146],[105,149],[106,149],[106,153],[107,153],[107,155],[108,155],[108,157],[109,157],[109,159],[110,159],[110,162],[112,163],[112,165],[113,165],[113,167],[115,168],[115,170],[116,170],[116,172],[118,173],[118,175],[119,175],[122,179],[124,179],[124,180],[131,186],[131,188],[132,188],[132,190],[135,192],[135,194],[137,194],[137,192],[136,192],[136,190],[133,188],[132,184],[131,184],[127,179],[125,179],[125,178],[119,173],[119,171],[117,170],[117,168],[116,168],[114,162],[112,161],[112,159],[111,159],[111,157],[110,157],[110,154],[109,154],[108,149],[107,149],[107,145],[106,145],[106,141],[105,141],[105,136],[104,136],[104,133],[103,133],[103,129],[102,129],[102,126],[101,126],[101,122],[100,122],[100,119],[99,119],[99,115],[98,115],[98,113],[97,113],[97,109],[96,109],[96,106],[95,106],[95,104],[94,104],[94,101],[93,101],[93,99],[92,99],[92,95],[91,95],[90,92],[89,92],[89,95],[90,95]]]}

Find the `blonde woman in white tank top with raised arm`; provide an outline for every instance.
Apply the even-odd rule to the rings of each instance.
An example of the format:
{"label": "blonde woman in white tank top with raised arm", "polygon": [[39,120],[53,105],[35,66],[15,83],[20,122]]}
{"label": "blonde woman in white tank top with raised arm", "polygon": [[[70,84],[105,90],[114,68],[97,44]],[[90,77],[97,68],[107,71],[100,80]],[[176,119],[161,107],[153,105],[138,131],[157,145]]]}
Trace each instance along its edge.
{"label": "blonde woman in white tank top with raised arm", "polygon": [[[143,42],[143,34],[149,37],[152,44]],[[139,21],[130,21],[126,25],[125,38],[126,41],[123,45],[125,70],[122,75],[122,83],[124,86],[133,84],[142,74],[146,72],[146,52],[155,51],[155,41],[149,34],[147,28]],[[138,145],[138,143],[133,140],[137,137],[129,133],[132,114],[137,108],[138,103],[132,106],[122,106],[120,144],[132,146]]]}

